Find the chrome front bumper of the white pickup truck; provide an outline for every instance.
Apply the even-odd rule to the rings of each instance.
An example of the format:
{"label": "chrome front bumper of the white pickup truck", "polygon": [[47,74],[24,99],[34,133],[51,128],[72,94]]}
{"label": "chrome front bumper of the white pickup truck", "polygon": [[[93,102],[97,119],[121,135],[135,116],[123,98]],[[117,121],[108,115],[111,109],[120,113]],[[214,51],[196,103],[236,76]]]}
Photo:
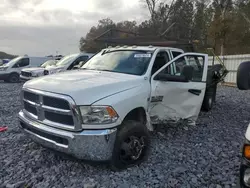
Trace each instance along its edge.
{"label": "chrome front bumper of the white pickup truck", "polygon": [[60,130],[28,119],[19,112],[20,126],[35,142],[54,150],[73,155],[78,159],[108,161],[116,139],[117,129]]}

